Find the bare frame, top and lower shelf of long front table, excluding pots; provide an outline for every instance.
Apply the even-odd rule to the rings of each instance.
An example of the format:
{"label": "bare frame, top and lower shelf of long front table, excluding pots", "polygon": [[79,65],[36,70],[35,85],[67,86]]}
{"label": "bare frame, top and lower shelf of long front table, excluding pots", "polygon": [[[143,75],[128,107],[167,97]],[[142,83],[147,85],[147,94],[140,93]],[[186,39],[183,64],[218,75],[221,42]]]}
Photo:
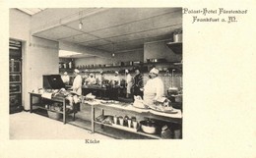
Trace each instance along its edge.
{"label": "bare frame, top and lower shelf of long front table, excluding pots", "polygon": [[[92,106],[92,132],[95,131],[95,125],[100,125],[102,128],[109,127],[113,129],[118,129],[120,131],[126,131],[126,132],[133,132],[139,135],[147,136],[149,138],[154,138],[154,139],[160,139],[160,132],[151,134],[151,133],[146,133],[142,132],[140,129],[135,130],[133,128],[128,128],[128,127],[123,127],[123,126],[118,126],[115,124],[105,124],[102,122],[98,122],[96,120],[96,110],[101,111],[101,116],[104,116],[105,113],[111,112],[111,113],[116,113],[117,115],[127,115],[127,116],[139,116],[140,118],[147,118],[147,119],[153,119],[153,120],[158,120],[162,122],[168,122],[168,123],[174,123],[178,125],[182,125],[182,114],[180,110],[176,110],[177,113],[175,114],[166,114],[166,113],[161,113],[161,112],[155,112],[149,109],[138,109],[133,107],[131,104],[125,104],[125,103],[117,103],[117,104],[103,104],[100,103],[100,101],[84,101],[83,104],[89,104]],[[104,133],[108,134],[108,133]],[[111,134],[109,134],[111,135]],[[117,138],[122,138],[122,137],[117,137]]]}

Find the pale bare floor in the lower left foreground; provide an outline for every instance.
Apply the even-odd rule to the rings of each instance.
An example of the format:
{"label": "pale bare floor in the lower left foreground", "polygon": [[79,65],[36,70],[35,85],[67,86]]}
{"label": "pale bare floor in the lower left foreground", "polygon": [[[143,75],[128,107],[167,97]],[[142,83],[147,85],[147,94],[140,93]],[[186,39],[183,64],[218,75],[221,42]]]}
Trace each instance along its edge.
{"label": "pale bare floor in the lower left foreground", "polygon": [[10,139],[112,139],[90,133],[69,124],[64,125],[37,114],[21,112],[10,115]]}

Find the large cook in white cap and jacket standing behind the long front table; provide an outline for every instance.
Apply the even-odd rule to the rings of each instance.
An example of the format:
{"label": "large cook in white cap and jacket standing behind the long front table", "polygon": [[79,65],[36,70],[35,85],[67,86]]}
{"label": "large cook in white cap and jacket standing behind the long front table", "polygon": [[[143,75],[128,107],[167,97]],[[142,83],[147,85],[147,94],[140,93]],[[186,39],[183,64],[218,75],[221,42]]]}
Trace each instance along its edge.
{"label": "large cook in white cap and jacket standing behind the long front table", "polygon": [[159,78],[160,71],[153,68],[149,74],[149,80],[144,86],[144,103],[146,105],[153,105],[156,100],[163,96],[163,82]]}

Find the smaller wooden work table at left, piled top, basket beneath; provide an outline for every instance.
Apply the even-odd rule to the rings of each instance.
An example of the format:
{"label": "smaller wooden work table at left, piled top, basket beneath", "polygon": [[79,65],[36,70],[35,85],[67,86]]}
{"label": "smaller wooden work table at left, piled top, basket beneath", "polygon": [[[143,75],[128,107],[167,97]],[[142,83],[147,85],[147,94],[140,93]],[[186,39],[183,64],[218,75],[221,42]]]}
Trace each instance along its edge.
{"label": "smaller wooden work table at left, piled top, basket beneath", "polygon": [[[32,93],[32,92],[30,92],[30,97],[31,97],[31,105],[30,105],[31,106],[31,108],[30,108],[31,113],[35,112],[35,113],[41,114],[43,116],[47,116],[47,114],[45,112],[51,111],[51,112],[54,112],[54,113],[62,114],[63,115],[63,124],[66,124],[66,117],[67,117],[68,114],[73,114],[73,120],[75,120],[76,110],[67,111],[66,99],[64,97],[53,97],[53,98],[49,99],[49,98],[41,97],[41,94]],[[52,103],[61,103],[62,104],[62,110],[61,111],[50,110],[49,104],[52,104]],[[46,104],[47,104],[47,106],[45,106]],[[38,109],[44,111],[44,113],[38,111]]]}

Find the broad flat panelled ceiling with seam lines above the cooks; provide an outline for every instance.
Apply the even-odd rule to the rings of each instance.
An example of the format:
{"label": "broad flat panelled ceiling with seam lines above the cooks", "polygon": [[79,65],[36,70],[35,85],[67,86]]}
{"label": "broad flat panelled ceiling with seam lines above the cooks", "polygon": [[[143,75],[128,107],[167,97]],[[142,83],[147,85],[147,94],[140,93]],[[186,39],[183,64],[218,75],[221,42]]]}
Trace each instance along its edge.
{"label": "broad flat panelled ceiling with seam lines above the cooks", "polygon": [[182,26],[181,8],[109,8],[81,18],[82,13],[77,13],[76,20],[44,27],[32,35],[122,53],[143,49],[145,42],[171,40],[173,30]]}

